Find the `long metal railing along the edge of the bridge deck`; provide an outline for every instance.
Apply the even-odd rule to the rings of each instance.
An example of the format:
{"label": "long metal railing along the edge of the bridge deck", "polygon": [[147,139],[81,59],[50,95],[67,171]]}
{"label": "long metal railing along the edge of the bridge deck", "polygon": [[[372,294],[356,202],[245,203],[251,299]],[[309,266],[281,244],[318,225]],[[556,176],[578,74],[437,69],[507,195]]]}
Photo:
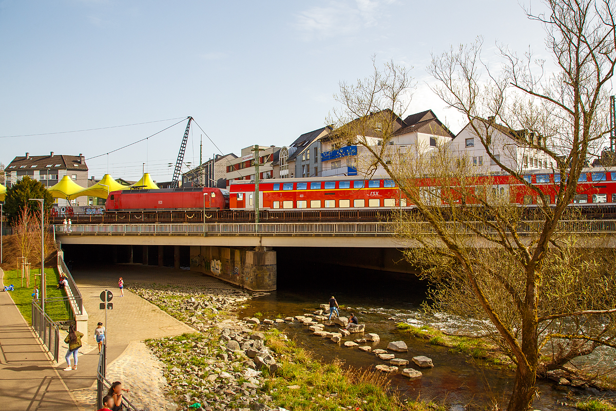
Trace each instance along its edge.
{"label": "long metal railing along the edge of the bridge deck", "polygon": [[[446,230],[460,234],[496,234],[498,230],[486,222],[446,222]],[[559,222],[565,232],[614,233],[616,220],[576,220]],[[518,234],[537,233],[543,221],[517,223]],[[415,233],[434,234],[429,222],[405,224],[405,230]],[[70,231],[60,224],[54,226],[56,234],[64,235],[381,235],[394,236],[400,231],[397,222],[248,222],[214,224],[73,224]],[[507,231],[503,229],[503,231]]]}

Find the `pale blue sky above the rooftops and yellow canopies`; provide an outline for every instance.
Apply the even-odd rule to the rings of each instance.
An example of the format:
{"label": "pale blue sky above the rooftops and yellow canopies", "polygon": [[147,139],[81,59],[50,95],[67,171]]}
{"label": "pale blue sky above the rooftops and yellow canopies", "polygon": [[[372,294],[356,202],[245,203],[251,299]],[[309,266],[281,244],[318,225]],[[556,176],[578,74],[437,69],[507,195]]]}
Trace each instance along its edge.
{"label": "pale blue sky above the rooftops and yellow canopies", "polygon": [[[204,161],[291,144],[325,125],[339,82],[370,75],[373,55],[379,67],[410,69],[416,87],[403,115],[432,109],[458,132],[460,114],[429,89],[431,54],[483,36],[488,61],[496,43],[545,55],[529,4],[0,0],[0,162],[83,153],[90,176],[137,180],[145,169],[169,181],[187,122],[161,130],[197,121],[203,131],[193,124],[184,158],[195,165],[200,138]],[[136,123],[147,124],[109,128]],[[105,129],[64,133],[96,128]]]}

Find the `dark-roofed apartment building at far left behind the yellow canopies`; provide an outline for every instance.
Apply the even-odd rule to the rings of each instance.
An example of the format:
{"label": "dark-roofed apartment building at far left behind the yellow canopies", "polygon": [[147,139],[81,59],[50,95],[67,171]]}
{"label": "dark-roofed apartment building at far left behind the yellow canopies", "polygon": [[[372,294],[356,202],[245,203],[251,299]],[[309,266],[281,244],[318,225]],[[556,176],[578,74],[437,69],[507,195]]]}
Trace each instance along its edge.
{"label": "dark-roofed apartment building at far left behind the yellow canopies", "polygon": [[[56,155],[54,152],[49,155],[30,155],[15,157],[6,166],[6,187],[11,187],[15,182],[23,179],[24,176],[40,181],[45,187],[52,187],[64,176],[69,176],[81,187],[87,187],[87,165],[83,154],[79,155]],[[57,205],[70,205],[67,200],[57,198]],[[75,202],[76,201],[76,202]],[[78,197],[72,200],[72,205],[87,206],[87,197]]]}

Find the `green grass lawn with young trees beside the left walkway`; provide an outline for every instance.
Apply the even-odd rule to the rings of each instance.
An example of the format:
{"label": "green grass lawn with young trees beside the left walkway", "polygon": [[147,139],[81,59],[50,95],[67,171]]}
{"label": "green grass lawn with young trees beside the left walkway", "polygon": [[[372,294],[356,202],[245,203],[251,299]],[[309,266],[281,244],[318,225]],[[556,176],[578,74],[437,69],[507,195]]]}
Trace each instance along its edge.
{"label": "green grass lawn with young trees beside the left walkway", "polygon": [[[21,270],[10,270],[4,272],[4,285],[13,285],[15,287],[15,291],[8,291],[10,296],[15,301],[15,305],[22,313],[23,318],[28,321],[28,324],[32,324],[32,293],[34,292],[34,285],[39,285],[40,277],[34,277],[34,274],[39,274],[41,269],[32,270],[30,272],[30,288],[26,288],[26,280],[23,280],[23,288],[22,288],[22,271]],[[47,298],[57,298],[57,297],[65,297],[67,296],[64,290],[56,290],[56,286],[58,285],[58,281],[60,280],[60,274],[55,268],[46,268],[45,275],[47,279]],[[35,279],[36,278],[36,284]],[[39,297],[41,287],[39,287]],[[1,292],[1,291],[0,291]],[[51,317],[54,321],[60,320],[68,320],[70,318],[69,310],[70,307],[67,306],[64,302],[52,302],[46,304],[45,312],[49,317]]]}

